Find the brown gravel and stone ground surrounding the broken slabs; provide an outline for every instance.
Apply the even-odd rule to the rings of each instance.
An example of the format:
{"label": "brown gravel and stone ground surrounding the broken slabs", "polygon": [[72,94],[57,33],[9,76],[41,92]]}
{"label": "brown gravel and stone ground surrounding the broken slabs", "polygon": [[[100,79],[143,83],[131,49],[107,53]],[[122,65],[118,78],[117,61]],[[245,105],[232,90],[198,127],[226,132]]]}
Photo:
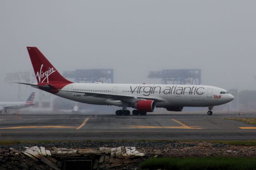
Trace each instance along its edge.
{"label": "brown gravel and stone ground surrounding the broken slabs", "polygon": [[[139,169],[140,163],[151,157],[202,157],[202,156],[237,156],[256,157],[256,146],[233,146],[227,144],[212,144],[210,142],[179,142],[179,141],[74,141],[74,142],[46,142],[20,143],[0,146],[0,170],[46,170],[42,163],[34,162],[24,156],[23,146],[44,146],[45,148],[99,148],[135,146],[138,151],[146,154],[136,163],[117,169]],[[13,149],[10,149],[13,148]]]}

